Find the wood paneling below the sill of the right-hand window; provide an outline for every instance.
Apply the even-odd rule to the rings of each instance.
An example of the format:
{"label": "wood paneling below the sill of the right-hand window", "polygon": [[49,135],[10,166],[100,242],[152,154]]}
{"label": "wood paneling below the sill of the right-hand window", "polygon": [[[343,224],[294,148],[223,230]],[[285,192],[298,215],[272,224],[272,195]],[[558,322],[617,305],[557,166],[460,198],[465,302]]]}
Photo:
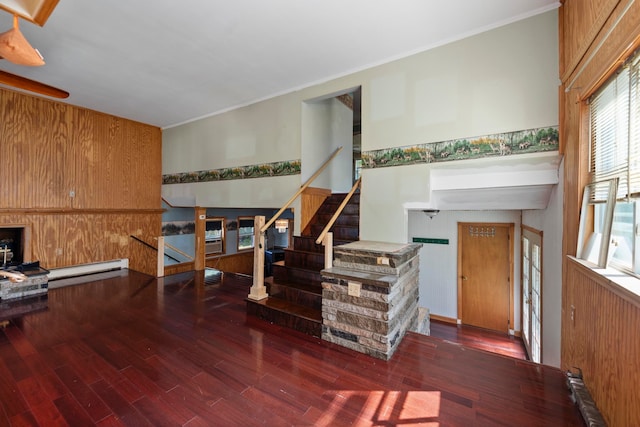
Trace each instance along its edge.
{"label": "wood paneling below the sill of the right-hand window", "polygon": [[562,315],[562,368],[582,369],[610,426],[640,425],[640,304],[608,289],[608,281],[568,262]]}

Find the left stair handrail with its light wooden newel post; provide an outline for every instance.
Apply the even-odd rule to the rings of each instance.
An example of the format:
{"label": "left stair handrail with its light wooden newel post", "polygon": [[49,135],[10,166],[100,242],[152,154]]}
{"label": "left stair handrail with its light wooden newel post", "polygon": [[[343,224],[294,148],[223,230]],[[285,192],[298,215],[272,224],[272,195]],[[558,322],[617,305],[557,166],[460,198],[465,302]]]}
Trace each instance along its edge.
{"label": "left stair handrail with its light wooden newel post", "polygon": [[338,147],[331,156],[318,168],[318,170],[305,181],[293,196],[280,208],[273,217],[265,222],[264,216],[256,216],[253,224],[254,246],[253,246],[253,285],[248,295],[249,299],[262,300],[267,298],[267,288],[264,286],[264,234],[267,229],[278,219],[280,215],[291,206],[291,204],[302,194],[302,192],[329,166],[329,163],[336,158],[342,147]]}

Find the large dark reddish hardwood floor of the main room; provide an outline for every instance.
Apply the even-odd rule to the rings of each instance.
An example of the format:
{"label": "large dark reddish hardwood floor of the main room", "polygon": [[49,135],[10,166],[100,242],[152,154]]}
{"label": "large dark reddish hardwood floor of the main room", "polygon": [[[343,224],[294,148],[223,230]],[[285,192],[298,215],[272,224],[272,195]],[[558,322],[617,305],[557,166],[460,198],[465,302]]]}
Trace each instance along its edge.
{"label": "large dark reddish hardwood floor of the main room", "polygon": [[133,271],[0,331],[0,426],[581,426],[561,371],[408,333],[390,361],[247,318],[251,278]]}

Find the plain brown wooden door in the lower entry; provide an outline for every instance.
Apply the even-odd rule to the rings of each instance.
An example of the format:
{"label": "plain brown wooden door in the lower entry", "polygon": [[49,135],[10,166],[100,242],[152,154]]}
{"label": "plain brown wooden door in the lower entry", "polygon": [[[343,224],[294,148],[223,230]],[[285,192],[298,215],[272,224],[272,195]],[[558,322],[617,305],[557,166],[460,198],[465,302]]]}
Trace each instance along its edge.
{"label": "plain brown wooden door in the lower entry", "polygon": [[511,332],[513,227],[458,223],[458,318],[463,325]]}

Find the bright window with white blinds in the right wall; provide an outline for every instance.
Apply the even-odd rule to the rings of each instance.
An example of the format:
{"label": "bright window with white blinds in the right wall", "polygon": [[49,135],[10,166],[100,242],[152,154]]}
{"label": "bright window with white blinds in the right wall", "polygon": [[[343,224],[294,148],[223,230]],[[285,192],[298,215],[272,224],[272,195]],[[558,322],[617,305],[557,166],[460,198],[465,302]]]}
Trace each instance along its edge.
{"label": "bright window with white blinds in the right wall", "polygon": [[[592,182],[618,178],[609,263],[635,274],[640,274],[636,233],[640,220],[639,80],[640,55],[636,52],[589,100]],[[603,191],[596,188],[595,197],[602,198]],[[594,205],[596,219],[603,215],[602,209]]]}

